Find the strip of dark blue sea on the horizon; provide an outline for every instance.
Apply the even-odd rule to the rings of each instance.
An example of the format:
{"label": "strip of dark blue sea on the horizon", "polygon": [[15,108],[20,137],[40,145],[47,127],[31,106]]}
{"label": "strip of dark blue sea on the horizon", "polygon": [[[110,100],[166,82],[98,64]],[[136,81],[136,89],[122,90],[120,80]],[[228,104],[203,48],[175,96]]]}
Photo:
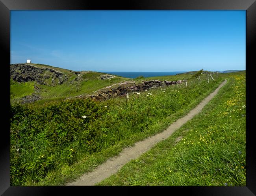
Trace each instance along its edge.
{"label": "strip of dark blue sea on the horizon", "polygon": [[153,76],[173,76],[177,73],[184,73],[183,72],[108,72],[104,71],[104,73],[116,75],[116,76],[122,76],[124,78],[137,78],[138,76],[144,76],[147,77],[153,77]]}

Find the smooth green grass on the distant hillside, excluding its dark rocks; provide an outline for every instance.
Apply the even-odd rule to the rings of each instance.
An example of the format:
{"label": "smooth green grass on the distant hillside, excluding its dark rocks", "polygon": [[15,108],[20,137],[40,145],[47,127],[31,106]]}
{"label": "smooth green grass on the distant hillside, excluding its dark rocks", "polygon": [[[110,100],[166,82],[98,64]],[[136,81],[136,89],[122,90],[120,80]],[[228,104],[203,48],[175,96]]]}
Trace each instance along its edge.
{"label": "smooth green grass on the distant hillside, excluding its dark rocks", "polygon": [[78,96],[81,94],[93,93],[94,91],[108,87],[109,85],[128,80],[128,78],[123,78],[120,76],[116,76],[115,78],[111,78],[109,80],[101,80],[100,75],[104,73],[87,71],[81,73],[82,76],[78,82],[70,83],[72,80],[78,77],[75,73],[72,73],[71,70],[43,64],[28,65],[32,65],[38,68],[54,69],[66,75],[68,80],[62,84],[58,84],[58,78],[55,78],[55,85],[53,85],[51,76],[52,73],[50,71],[45,71],[41,74],[41,76],[49,76],[49,78],[45,79],[44,81],[47,85],[37,84],[36,82],[11,82],[11,102],[15,102],[17,100],[19,101],[20,98],[32,94],[34,92],[32,89],[33,85],[39,87],[37,94],[41,96],[43,100],[37,101],[37,104],[41,104],[45,102],[52,102],[54,100],[63,100],[65,98]]}

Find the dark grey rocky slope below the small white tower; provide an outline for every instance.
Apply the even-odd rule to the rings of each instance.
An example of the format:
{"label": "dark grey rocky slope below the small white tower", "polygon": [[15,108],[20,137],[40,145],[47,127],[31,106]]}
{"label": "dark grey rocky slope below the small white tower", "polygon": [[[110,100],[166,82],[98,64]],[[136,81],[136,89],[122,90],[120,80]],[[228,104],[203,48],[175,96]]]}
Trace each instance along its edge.
{"label": "dark grey rocky slope below the small white tower", "polygon": [[[65,74],[49,68],[39,68],[26,64],[11,64],[10,65],[10,78],[17,82],[36,81],[39,84],[55,85],[62,84],[68,78]],[[50,83],[45,80],[52,78]]]}

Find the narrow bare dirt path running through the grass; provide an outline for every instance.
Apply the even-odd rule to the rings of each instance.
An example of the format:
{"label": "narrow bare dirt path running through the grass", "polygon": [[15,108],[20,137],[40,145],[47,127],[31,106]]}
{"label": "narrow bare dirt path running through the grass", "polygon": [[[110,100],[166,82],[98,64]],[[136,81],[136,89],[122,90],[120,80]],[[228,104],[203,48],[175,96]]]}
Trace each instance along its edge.
{"label": "narrow bare dirt path running through the grass", "polygon": [[227,80],[225,80],[213,93],[204,98],[202,102],[197,105],[194,109],[192,109],[186,116],[178,119],[176,122],[171,124],[165,131],[158,133],[150,138],[147,138],[143,141],[137,142],[133,147],[125,148],[119,156],[115,156],[110,158],[102,165],[96,167],[96,169],[92,172],[83,174],[76,181],[67,183],[66,186],[91,186],[96,183],[108,178],[112,174],[115,174],[121,167],[129,162],[132,159],[139,157],[144,152],[151,149],[156,143],[161,140],[167,139],[171,134],[178,128],[180,128],[187,121],[191,120],[193,116],[200,113],[202,108],[218,93],[219,89],[225,85]]}

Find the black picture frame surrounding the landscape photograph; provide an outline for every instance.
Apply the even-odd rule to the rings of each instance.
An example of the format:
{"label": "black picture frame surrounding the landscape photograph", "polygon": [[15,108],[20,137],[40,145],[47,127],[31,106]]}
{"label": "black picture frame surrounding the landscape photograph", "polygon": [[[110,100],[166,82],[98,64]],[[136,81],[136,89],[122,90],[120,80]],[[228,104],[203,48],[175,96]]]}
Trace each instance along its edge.
{"label": "black picture frame surrounding the landscape photograph", "polygon": [[[2,58],[2,83],[4,93],[2,93],[2,105],[7,107],[9,114],[9,65],[10,64],[10,11],[11,10],[246,10],[246,101],[247,106],[247,125],[246,125],[246,144],[247,144],[247,179],[246,187],[147,187],[150,192],[168,191],[169,194],[184,192],[190,195],[256,195],[256,156],[254,154],[255,136],[252,129],[253,108],[252,74],[255,63],[255,41],[256,41],[256,2],[255,0],[122,0],[122,1],[96,1],[96,0],[0,0],[0,43]],[[9,57],[9,58],[8,58]],[[249,81],[248,81],[249,80]],[[0,194],[2,195],[51,195],[56,194],[90,194],[88,191],[99,191],[110,187],[11,187],[9,171],[9,115],[3,112],[2,124],[5,128],[1,131],[1,153],[0,153]],[[252,114],[252,116],[250,116]],[[3,127],[3,126],[2,126]],[[115,187],[118,192],[123,187]],[[144,191],[144,187],[141,187]],[[126,187],[127,189],[127,187]],[[128,190],[137,191],[136,187],[128,187]],[[112,192],[112,194],[115,192]],[[128,193],[128,192],[126,192]],[[119,194],[122,194],[119,192]]]}

